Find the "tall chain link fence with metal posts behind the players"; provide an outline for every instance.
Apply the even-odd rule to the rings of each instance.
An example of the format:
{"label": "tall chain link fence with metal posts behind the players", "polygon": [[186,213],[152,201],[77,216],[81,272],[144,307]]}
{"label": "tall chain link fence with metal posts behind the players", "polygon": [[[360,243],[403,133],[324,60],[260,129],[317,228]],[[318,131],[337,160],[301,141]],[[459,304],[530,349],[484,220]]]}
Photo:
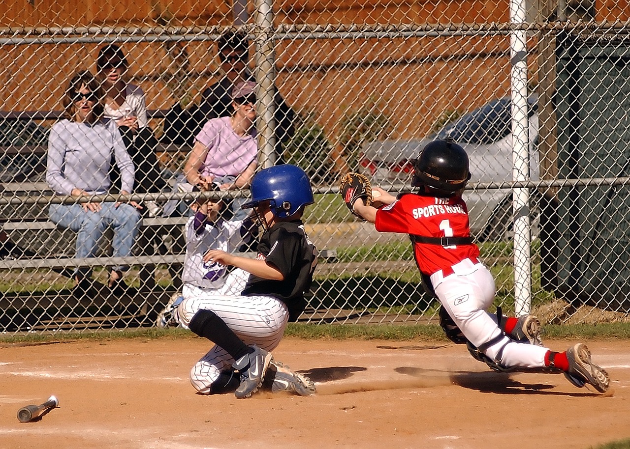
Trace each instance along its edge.
{"label": "tall chain link fence with metal posts behind the players", "polygon": [[[241,80],[256,84],[237,106],[255,101],[258,167],[299,165],[316,191],[305,221],[322,258],[301,321],[437,322],[408,238],[353,218],[336,182],[358,170],[410,189],[410,160],[446,135],[471,157],[465,198],[496,304],[544,322],[627,320],[628,13],[612,1],[488,5],[2,4],[0,331],[154,325],[181,287],[195,138],[236,114]],[[95,257],[79,257],[77,233],[51,218],[51,206],[77,201],[55,194],[46,172],[80,70],[107,91],[105,114],[134,162],[131,196],[120,167],[96,192],[144,207],[129,254],[107,228]]]}

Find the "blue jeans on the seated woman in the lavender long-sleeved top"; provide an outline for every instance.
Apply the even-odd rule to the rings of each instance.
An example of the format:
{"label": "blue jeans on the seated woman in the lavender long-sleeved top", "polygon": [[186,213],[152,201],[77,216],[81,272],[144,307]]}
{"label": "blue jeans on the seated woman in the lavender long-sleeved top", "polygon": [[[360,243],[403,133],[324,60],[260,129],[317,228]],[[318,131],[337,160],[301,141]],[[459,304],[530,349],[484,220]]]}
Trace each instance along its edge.
{"label": "blue jeans on the seated woman in the lavender long-sleeved top", "polygon": [[[77,233],[75,257],[95,257],[98,241],[107,226],[114,230],[113,257],[129,256],[140,228],[140,213],[130,204],[123,203],[117,208],[114,205],[113,202],[101,202],[100,211],[86,212],[81,204],[51,204],[49,216],[58,226]],[[129,267],[112,269],[126,271]]]}

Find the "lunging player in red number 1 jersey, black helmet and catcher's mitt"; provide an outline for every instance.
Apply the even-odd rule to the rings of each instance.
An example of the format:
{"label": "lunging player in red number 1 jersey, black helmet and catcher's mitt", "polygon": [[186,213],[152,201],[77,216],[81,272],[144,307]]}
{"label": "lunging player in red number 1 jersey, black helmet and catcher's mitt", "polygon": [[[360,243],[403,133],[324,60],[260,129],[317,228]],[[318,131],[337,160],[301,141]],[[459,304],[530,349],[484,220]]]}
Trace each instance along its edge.
{"label": "lunging player in red number 1 jersey, black helmet and catcher's mitt", "polygon": [[[462,191],[471,178],[468,156],[450,138],[427,144],[413,162],[411,186],[417,193],[394,197],[369,180],[348,174],[340,193],[353,214],[381,232],[405,233],[427,289],[442,304],[440,324],[455,343],[466,343],[473,357],[498,371],[563,373],[576,387],[609,388],[607,372],[595,365],[584,343],[565,352],[542,346],[535,316],[507,318],[486,309],[495,281],[479,260]],[[381,206],[379,208],[375,206]]]}

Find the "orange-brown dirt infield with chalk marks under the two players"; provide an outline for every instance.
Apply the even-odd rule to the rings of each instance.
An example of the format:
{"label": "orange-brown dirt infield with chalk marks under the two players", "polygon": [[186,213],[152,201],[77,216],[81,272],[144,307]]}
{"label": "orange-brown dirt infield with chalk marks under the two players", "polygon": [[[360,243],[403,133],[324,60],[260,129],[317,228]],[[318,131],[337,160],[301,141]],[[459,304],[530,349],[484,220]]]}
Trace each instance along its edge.
{"label": "orange-brown dirt infield with chalk marks under the two players", "polygon": [[[200,338],[0,346],[0,447],[586,449],[630,436],[630,341],[589,342],[612,379],[606,396],[562,375],[490,372],[443,342],[295,338],[275,357],[309,375],[316,396],[200,396],[188,370],[208,347]],[[53,394],[57,409],[18,421],[20,407]]]}

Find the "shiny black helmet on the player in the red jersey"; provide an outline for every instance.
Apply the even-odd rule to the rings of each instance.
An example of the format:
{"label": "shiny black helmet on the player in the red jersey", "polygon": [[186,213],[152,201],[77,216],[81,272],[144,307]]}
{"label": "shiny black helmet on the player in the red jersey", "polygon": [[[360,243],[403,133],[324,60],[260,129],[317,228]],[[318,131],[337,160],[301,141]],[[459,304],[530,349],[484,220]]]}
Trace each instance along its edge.
{"label": "shiny black helmet on the player in the red jersey", "polygon": [[468,155],[449,137],[427,143],[413,161],[413,187],[427,186],[450,196],[463,189],[469,179]]}

